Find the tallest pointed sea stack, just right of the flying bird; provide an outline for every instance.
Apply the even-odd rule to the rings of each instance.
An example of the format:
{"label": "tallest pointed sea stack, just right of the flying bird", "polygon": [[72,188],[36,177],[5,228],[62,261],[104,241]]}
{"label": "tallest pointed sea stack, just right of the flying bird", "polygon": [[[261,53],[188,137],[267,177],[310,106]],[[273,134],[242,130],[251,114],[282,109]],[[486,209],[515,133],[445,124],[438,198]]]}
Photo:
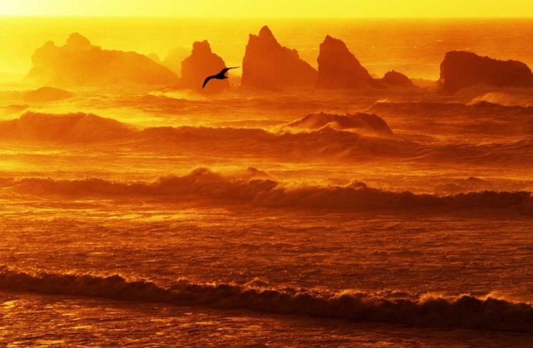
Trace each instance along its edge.
{"label": "tallest pointed sea stack, just right of the flying bird", "polygon": [[250,34],[242,60],[242,85],[266,90],[314,85],[317,72],[298,56],[298,51],[281,46],[267,26],[259,36]]}

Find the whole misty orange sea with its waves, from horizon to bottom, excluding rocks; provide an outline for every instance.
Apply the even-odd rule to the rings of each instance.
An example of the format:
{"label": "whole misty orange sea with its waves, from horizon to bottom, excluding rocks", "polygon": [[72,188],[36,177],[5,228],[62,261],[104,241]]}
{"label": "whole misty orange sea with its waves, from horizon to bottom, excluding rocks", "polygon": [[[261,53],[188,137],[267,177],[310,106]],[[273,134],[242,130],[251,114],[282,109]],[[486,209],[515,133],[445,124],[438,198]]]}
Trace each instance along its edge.
{"label": "whole misty orange sea with its waves, from horizon to bottom, excluding rocks", "polygon": [[[108,51],[208,39],[238,66],[264,24],[314,68],[329,34],[415,85],[261,90],[235,69],[198,93]],[[532,24],[0,19],[0,343],[528,347],[532,88],[436,80],[453,50],[532,66]],[[152,68],[24,78],[49,40]]]}

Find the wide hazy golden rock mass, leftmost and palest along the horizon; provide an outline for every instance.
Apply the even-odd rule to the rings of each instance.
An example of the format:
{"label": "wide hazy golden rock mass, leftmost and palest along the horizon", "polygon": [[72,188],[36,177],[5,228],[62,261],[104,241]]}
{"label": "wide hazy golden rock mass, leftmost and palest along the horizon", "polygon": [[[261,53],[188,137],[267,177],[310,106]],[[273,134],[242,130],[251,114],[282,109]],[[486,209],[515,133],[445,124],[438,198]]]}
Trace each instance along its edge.
{"label": "wide hazy golden rock mass, leftmost and palest along the horizon", "polygon": [[48,41],[31,59],[33,68],[27,77],[47,85],[167,85],[178,80],[171,70],[146,56],[102,50],[79,33],[70,35],[62,47]]}

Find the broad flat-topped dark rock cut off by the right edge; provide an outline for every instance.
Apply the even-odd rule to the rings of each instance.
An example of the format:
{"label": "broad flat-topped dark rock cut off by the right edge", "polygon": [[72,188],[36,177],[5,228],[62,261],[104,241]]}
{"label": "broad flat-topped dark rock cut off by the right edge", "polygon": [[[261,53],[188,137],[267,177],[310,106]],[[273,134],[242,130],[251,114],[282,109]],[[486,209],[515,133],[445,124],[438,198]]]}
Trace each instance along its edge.
{"label": "broad flat-topped dark rock cut off by the right edge", "polygon": [[440,83],[454,93],[461,88],[485,84],[495,87],[533,87],[533,74],[517,60],[496,60],[465,51],[446,53],[441,63]]}

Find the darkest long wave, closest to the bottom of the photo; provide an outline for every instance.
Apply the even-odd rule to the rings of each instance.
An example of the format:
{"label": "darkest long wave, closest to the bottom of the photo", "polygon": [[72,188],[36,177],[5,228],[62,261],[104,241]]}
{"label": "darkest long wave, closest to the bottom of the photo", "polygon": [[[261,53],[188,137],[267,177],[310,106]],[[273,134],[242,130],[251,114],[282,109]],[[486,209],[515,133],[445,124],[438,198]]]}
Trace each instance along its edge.
{"label": "darkest long wave, closest to the bottom of the photo", "polygon": [[246,309],[288,315],[388,322],[418,327],[502,330],[533,333],[530,304],[480,299],[424,297],[393,299],[361,292],[315,292],[306,289],[265,289],[244,285],[190,283],[181,280],[163,288],[146,280],[119,275],[30,274],[0,266],[0,289],[46,295],[104,297],[112,300],[164,302],[171,305]]}

